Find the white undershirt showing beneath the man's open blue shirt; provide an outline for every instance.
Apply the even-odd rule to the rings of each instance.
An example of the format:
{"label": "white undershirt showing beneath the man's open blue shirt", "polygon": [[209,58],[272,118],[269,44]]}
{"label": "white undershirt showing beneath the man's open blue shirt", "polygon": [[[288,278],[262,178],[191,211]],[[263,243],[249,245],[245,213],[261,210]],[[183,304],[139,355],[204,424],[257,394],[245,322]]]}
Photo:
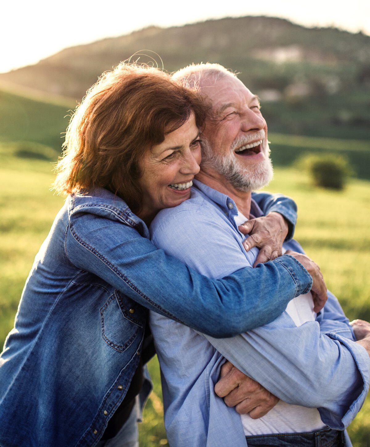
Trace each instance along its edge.
{"label": "white undershirt showing beneath the man's open blue shirt", "polygon": [[[244,223],[246,220],[248,219],[241,213],[235,216],[235,223],[237,225]],[[284,248],[283,253],[285,253]],[[312,295],[311,292],[308,292],[305,295],[299,295],[292,299],[286,307],[286,312],[296,326],[301,326],[307,321],[315,321],[316,314],[313,308]],[[269,413],[259,419],[252,419],[248,414],[242,414],[240,417],[246,436],[278,433],[307,433],[326,427],[321,421],[320,413],[316,408],[290,405],[283,401],[279,401]]]}

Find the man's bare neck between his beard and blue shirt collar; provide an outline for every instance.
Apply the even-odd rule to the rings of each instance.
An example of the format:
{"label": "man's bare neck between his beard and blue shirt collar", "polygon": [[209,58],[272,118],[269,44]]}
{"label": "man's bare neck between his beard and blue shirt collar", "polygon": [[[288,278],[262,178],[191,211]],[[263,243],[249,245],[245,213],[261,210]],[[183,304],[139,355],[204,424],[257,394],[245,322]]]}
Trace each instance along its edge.
{"label": "man's bare neck between his beard and blue shirt collar", "polygon": [[249,218],[252,198],[250,192],[235,189],[224,179],[224,177],[212,171],[204,171],[201,169],[195,178],[205,185],[210,186],[210,188],[213,188],[214,190],[217,190],[220,193],[226,194],[232,198],[238,208],[238,211],[245,217]]}

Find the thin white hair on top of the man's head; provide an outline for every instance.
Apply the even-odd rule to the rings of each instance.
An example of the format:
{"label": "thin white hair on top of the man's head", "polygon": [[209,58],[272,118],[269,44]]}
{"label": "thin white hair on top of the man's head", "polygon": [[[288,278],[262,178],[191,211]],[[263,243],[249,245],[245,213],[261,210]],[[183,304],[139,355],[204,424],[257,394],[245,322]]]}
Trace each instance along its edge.
{"label": "thin white hair on top of the man's head", "polygon": [[191,90],[202,90],[207,81],[212,80],[215,83],[225,76],[237,77],[235,73],[219,63],[209,62],[191,64],[172,74],[172,78]]}

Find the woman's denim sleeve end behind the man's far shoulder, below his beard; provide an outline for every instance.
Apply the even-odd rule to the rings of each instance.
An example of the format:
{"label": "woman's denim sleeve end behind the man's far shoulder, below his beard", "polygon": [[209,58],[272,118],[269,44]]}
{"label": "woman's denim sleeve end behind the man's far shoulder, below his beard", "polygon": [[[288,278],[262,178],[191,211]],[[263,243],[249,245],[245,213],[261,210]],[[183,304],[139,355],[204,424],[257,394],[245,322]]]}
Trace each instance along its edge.
{"label": "woman's denim sleeve end behind the man's far shoulder, below his beard", "polygon": [[297,223],[297,205],[294,200],[282,194],[270,194],[267,192],[252,193],[252,198],[261,208],[264,215],[275,211],[285,217],[288,222],[286,240],[290,240],[294,235],[295,224]]}

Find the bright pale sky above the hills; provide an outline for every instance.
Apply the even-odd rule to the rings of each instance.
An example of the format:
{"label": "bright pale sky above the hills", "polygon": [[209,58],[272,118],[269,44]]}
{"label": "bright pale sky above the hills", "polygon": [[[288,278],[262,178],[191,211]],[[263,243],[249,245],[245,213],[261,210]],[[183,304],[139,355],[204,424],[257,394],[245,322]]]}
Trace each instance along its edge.
{"label": "bright pale sky above the hills", "polygon": [[[63,48],[210,18],[267,15],[305,26],[336,26],[370,35],[368,0],[14,0],[1,4],[0,72],[37,63]],[[252,30],[250,31],[252,32]],[[186,43],[186,42],[184,42]],[[150,48],[148,48],[150,50]]]}

